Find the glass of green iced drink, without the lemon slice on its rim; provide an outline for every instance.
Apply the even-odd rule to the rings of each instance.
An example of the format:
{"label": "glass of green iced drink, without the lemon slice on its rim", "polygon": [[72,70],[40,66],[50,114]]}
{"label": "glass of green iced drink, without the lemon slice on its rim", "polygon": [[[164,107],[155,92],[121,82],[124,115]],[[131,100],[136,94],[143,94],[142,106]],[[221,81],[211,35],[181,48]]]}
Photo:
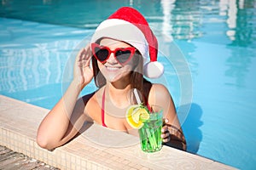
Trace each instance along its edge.
{"label": "glass of green iced drink, without the lemon slice on its rim", "polygon": [[138,132],[140,135],[141,148],[145,152],[155,152],[162,148],[160,137],[162,128],[163,111],[159,106],[151,105],[149,119],[143,120],[143,127]]}

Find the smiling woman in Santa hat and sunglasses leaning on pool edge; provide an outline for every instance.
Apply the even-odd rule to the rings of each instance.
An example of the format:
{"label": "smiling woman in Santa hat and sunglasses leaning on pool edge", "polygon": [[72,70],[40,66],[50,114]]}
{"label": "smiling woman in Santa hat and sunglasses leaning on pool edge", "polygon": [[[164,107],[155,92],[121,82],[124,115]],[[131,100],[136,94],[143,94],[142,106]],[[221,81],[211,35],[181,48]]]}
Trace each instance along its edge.
{"label": "smiling woman in Santa hat and sunglasses leaning on pool edge", "polygon": [[[148,54],[150,62],[145,65]],[[157,40],[143,15],[134,8],[119,8],[98,26],[91,43],[77,55],[73,81],[38,127],[38,144],[48,150],[65,144],[84,122],[138,135],[125,119],[127,108],[137,104],[132,93],[136,88],[143,105],[163,108],[163,143],[186,150],[171,95],[164,85],[143,77],[162,74],[163,66],[156,58]],[[92,78],[98,90],[78,99]]]}

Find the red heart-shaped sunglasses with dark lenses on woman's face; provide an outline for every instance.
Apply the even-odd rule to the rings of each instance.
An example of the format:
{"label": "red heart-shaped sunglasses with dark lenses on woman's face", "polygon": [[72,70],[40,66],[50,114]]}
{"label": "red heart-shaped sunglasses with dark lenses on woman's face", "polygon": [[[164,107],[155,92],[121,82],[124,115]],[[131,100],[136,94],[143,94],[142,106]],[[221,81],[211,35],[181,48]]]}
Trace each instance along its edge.
{"label": "red heart-shaped sunglasses with dark lenses on woman's face", "polygon": [[136,51],[136,48],[115,48],[114,50],[111,50],[108,47],[100,46],[97,43],[91,43],[91,51],[94,57],[102,63],[105,63],[110,54],[113,53],[114,58],[119,62],[119,64],[125,65],[130,61]]}

